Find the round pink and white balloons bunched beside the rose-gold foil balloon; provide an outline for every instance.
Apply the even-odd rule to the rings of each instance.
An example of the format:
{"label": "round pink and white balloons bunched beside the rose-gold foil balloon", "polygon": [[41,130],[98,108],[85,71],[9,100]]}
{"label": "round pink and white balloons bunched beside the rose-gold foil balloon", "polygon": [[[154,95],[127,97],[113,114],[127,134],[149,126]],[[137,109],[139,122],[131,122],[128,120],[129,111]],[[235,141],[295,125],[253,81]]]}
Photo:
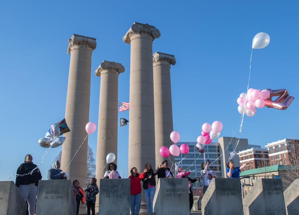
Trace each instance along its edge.
{"label": "round pink and white balloons bunched beside the rose-gold foil balloon", "polygon": [[256,113],[255,107],[264,107],[264,100],[269,98],[269,96],[270,92],[266,89],[262,91],[253,88],[248,89],[247,94],[241,93],[240,97],[237,99],[239,113],[246,113],[248,117],[253,117]]}

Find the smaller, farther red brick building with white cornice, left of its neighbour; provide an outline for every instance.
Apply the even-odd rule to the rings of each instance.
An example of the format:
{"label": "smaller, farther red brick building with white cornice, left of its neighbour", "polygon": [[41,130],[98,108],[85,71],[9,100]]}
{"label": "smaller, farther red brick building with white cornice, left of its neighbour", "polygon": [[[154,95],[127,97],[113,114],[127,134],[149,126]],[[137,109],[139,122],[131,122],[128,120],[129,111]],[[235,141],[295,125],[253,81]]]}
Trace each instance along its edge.
{"label": "smaller, farther red brick building with white cornice, left of its neighbour", "polygon": [[249,165],[241,171],[269,166],[268,149],[251,148],[239,151],[238,155],[240,157],[240,166],[250,161]]}

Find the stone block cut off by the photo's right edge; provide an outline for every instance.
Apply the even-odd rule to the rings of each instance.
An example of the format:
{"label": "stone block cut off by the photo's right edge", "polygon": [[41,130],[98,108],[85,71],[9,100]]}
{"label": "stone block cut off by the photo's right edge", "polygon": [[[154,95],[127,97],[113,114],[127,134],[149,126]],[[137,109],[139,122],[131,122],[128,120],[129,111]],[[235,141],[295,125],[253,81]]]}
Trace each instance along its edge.
{"label": "stone block cut off by the photo's right edge", "polygon": [[296,179],[284,192],[287,215],[299,214],[299,179]]}

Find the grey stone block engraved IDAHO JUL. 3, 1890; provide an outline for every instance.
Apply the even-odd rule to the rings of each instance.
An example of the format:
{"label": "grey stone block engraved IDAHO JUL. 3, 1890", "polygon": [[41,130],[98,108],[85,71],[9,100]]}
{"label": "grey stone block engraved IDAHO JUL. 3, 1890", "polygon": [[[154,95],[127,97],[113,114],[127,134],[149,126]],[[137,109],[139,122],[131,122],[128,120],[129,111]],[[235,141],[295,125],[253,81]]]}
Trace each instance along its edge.
{"label": "grey stone block engraved IDAHO JUL. 3, 1890", "polygon": [[99,214],[130,214],[130,179],[100,179]]}

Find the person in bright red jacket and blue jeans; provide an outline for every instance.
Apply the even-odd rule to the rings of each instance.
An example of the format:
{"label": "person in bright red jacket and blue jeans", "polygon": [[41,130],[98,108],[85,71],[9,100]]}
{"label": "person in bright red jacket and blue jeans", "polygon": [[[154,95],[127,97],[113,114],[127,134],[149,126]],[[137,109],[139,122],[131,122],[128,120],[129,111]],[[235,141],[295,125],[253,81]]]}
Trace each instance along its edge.
{"label": "person in bright red jacket and blue jeans", "polygon": [[130,207],[131,215],[138,215],[140,211],[141,204],[141,179],[144,178],[147,169],[143,170],[141,174],[138,174],[137,168],[133,167],[131,169],[131,175],[129,176],[131,189],[130,189]]}

